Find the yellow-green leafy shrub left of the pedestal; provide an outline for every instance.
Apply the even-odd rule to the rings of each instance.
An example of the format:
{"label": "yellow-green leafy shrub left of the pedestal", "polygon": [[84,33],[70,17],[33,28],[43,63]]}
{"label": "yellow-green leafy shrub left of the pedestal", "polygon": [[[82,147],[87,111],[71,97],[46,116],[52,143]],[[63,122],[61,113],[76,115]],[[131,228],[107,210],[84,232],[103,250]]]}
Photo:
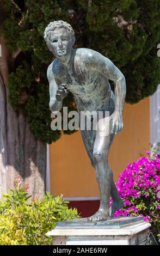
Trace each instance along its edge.
{"label": "yellow-green leafy shrub left of the pedestal", "polygon": [[44,198],[29,196],[28,184],[21,186],[21,178],[14,183],[15,190],[3,194],[0,201],[0,245],[52,245],[46,236],[57,221],[78,218],[77,209],[69,209],[63,195]]}

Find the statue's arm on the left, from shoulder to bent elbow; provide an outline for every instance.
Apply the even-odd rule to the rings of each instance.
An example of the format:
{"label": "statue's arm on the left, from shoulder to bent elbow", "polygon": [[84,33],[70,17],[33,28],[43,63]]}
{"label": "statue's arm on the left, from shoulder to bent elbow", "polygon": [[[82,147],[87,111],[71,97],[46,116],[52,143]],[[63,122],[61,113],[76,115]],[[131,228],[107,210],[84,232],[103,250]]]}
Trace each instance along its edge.
{"label": "statue's arm on the left, from shoulder to bent elbow", "polygon": [[56,99],[56,93],[57,93],[57,89],[58,89],[58,85],[54,79],[54,75],[52,72],[52,65],[53,63],[50,64],[50,66],[48,66],[47,69],[47,78],[48,78],[48,82],[50,84],[50,110],[51,111],[60,111],[62,106],[63,106],[63,102],[62,101],[57,101]]}

